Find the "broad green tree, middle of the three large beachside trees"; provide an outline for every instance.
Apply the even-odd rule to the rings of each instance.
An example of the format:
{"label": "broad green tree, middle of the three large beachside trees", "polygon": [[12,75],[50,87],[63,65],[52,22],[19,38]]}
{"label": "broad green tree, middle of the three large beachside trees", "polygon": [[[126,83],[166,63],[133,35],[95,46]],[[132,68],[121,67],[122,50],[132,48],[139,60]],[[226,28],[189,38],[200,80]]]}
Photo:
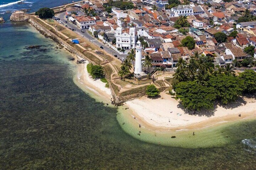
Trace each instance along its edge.
{"label": "broad green tree, middle of the three large beachside trees", "polygon": [[215,89],[215,93],[223,104],[235,101],[238,96],[242,95],[244,81],[235,76],[219,74],[209,79],[209,87]]}

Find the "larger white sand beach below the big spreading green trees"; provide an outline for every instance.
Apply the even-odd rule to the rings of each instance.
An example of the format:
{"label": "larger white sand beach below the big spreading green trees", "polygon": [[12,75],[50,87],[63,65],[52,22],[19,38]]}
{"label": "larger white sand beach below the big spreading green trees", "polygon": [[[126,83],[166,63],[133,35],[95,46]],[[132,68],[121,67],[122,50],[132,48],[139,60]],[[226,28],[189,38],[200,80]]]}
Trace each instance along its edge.
{"label": "larger white sand beach below the big spreading green trees", "polygon": [[[128,101],[126,104],[134,111],[133,114],[136,114],[136,118],[139,116],[140,119],[155,127],[174,128],[205,122],[206,120],[214,121],[214,118],[221,118],[215,120],[215,124],[222,124],[228,122],[227,118],[229,115],[232,115],[233,117],[236,116],[236,119],[243,119],[245,116],[244,113],[250,113],[256,110],[255,99],[245,100],[247,101],[247,104],[241,104],[241,106],[234,107],[233,109],[226,109],[218,106],[215,112],[211,113],[208,111],[201,116],[184,113],[182,108],[180,108],[182,107],[181,104],[165,93],[161,93],[161,97],[157,99],[150,99],[144,96],[139,99]],[[240,113],[242,116],[238,117],[238,114]],[[223,121],[224,119],[225,121]]]}

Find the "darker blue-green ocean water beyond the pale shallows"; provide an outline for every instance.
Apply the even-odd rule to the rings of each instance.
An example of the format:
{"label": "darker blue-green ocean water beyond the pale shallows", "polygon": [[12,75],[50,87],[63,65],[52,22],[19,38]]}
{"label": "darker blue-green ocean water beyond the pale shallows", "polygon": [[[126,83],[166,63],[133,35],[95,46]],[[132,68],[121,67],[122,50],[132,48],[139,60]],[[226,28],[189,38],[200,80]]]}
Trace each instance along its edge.
{"label": "darker blue-green ocean water beyond the pale shallows", "polygon": [[[51,1],[39,2],[31,9]],[[229,141],[215,147],[141,141],[118,123],[120,110],[75,85],[70,53],[27,23],[0,24],[0,35],[0,169],[255,169],[255,121],[222,127],[216,138],[209,131]]]}

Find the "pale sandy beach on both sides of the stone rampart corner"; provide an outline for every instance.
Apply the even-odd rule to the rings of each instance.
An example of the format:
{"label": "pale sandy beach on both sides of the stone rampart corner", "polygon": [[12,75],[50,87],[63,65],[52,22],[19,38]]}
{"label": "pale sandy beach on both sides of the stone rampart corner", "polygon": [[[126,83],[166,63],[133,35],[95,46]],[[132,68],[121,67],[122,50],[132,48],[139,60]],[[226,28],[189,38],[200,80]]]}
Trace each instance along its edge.
{"label": "pale sandy beach on both sides of the stone rampart corner", "polygon": [[[92,79],[87,72],[88,62],[78,65],[76,81],[81,88],[87,88],[94,94],[110,101],[112,98],[109,88],[100,79]],[[203,110],[196,114],[193,111],[184,110],[179,101],[169,94],[162,92],[156,99],[143,96],[127,101],[124,104],[129,107],[130,114],[127,119],[139,120],[140,124],[152,130],[176,130],[182,131],[193,128],[205,128],[211,125],[225,122],[251,119],[256,117],[256,100],[253,98],[240,98],[237,102],[226,106],[215,106],[213,110]],[[241,117],[238,116],[241,114]],[[137,122],[138,123],[138,122]]]}

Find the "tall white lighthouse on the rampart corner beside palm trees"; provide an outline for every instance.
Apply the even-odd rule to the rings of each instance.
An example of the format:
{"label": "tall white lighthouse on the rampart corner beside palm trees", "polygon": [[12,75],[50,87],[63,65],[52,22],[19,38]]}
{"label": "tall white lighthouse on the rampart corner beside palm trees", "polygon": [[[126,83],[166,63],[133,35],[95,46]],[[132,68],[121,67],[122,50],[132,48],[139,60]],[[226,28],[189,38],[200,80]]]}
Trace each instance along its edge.
{"label": "tall white lighthouse on the rampart corner beside palm trees", "polygon": [[135,52],[134,77],[141,81],[147,79],[147,74],[142,71],[142,47],[140,41],[137,42]]}

